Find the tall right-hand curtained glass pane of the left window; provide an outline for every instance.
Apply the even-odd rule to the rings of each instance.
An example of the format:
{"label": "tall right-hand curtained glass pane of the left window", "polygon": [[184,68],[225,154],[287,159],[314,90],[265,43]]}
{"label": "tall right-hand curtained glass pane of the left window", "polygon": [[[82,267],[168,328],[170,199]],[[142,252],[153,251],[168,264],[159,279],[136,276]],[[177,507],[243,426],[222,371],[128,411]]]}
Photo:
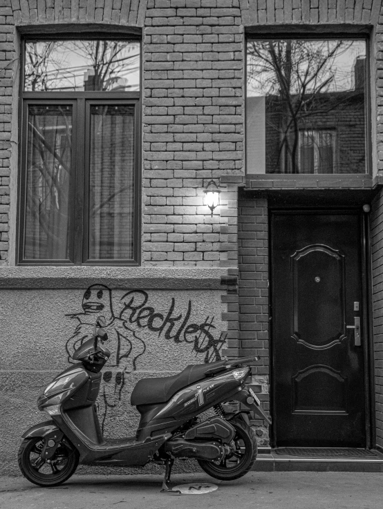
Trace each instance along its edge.
{"label": "tall right-hand curtained glass pane of the left window", "polygon": [[89,259],[131,260],[134,108],[91,106]]}

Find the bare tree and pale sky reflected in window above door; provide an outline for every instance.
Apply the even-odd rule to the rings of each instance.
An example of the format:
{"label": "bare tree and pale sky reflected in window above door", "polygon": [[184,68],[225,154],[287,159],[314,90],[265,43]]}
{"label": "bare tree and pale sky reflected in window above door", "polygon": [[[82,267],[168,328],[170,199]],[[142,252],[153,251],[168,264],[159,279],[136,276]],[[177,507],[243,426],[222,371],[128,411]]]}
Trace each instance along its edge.
{"label": "bare tree and pale sky reflected in window above door", "polygon": [[347,40],[299,39],[248,44],[247,85],[266,97],[272,112],[267,122],[279,136],[277,166],[283,173],[301,171],[299,131],[310,126],[306,121],[312,114],[342,108],[360,93],[351,90],[351,77],[339,66],[339,59],[352,45],[353,41]]}

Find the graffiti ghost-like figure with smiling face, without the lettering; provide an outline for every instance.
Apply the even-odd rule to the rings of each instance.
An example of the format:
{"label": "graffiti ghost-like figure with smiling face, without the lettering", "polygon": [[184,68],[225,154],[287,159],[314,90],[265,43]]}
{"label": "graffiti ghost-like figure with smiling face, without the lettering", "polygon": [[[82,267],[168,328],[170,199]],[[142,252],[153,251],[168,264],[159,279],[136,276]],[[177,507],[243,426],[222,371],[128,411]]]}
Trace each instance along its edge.
{"label": "graffiti ghost-like figure with smiling face, without the lettering", "polygon": [[102,377],[98,409],[102,431],[104,431],[106,418],[121,401],[125,374],[136,370],[137,360],[144,354],[146,346],[136,332],[129,327],[127,321],[113,313],[111,289],[105,285],[91,285],[82,298],[82,312],[66,315],[77,320],[75,332],[66,343],[69,362],[73,363],[72,354],[75,349],[93,336],[95,320],[100,315],[106,320],[104,329],[109,338],[106,346],[111,351],[106,364],[106,367],[110,369],[105,371]]}

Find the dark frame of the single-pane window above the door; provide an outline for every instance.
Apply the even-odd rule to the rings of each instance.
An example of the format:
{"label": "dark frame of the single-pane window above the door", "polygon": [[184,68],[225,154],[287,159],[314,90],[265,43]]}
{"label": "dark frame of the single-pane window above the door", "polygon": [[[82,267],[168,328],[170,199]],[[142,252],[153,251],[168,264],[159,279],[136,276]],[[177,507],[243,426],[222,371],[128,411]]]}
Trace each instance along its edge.
{"label": "dark frame of the single-pane window above the door", "polygon": [[[326,41],[334,39],[350,39],[350,40],[363,40],[366,44],[366,86],[364,97],[364,133],[365,133],[365,171],[364,173],[249,173],[247,171],[247,44],[250,41],[275,41],[278,39],[303,39],[312,41]],[[299,26],[291,26],[289,28],[280,27],[260,27],[247,28],[244,37],[244,96],[245,108],[243,115],[243,130],[244,130],[244,158],[245,158],[245,174],[256,175],[256,177],[270,180],[277,178],[303,178],[315,175],[316,177],[326,180],[329,175],[333,175],[339,179],[348,180],[351,176],[364,176],[371,177],[373,171],[372,164],[372,125],[371,125],[371,28],[362,26],[348,26],[345,30],[344,26],[324,26],[322,32],[313,32],[312,27],[301,28]],[[337,159],[337,156],[335,157]],[[320,182],[319,182],[320,185]]]}

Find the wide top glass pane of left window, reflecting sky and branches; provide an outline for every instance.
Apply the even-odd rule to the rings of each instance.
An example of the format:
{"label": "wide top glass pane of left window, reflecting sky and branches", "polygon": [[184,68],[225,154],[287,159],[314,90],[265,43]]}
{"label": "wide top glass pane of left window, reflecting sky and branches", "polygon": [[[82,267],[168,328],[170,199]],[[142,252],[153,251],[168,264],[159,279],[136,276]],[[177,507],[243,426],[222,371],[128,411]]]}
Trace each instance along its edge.
{"label": "wide top glass pane of left window, reflecting sky and branches", "polygon": [[27,41],[24,90],[140,90],[140,43]]}

